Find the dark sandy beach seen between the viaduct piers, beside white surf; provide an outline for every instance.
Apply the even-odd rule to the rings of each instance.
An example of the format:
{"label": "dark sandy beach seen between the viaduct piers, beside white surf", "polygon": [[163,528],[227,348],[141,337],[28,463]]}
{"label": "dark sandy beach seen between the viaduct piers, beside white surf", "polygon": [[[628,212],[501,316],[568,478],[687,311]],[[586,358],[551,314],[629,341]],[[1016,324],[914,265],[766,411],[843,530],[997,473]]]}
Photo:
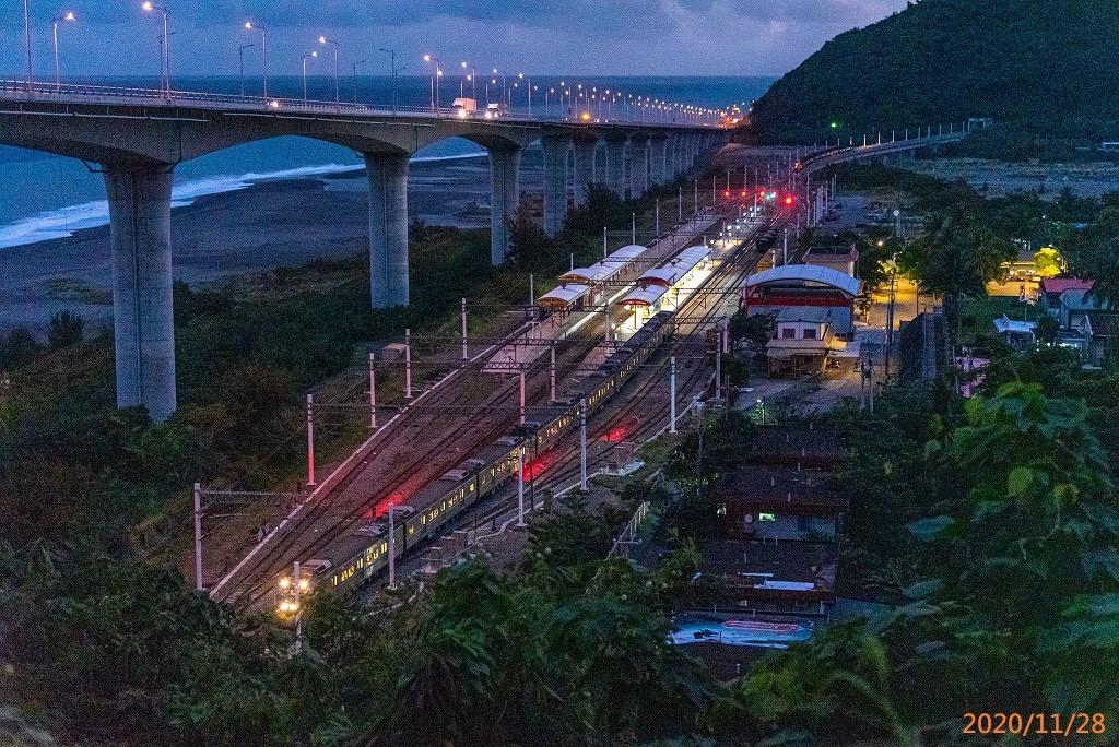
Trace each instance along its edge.
{"label": "dark sandy beach seen between the viaduct piers, beside white surf", "polygon": [[[539,181],[539,154],[526,153],[523,188]],[[489,225],[489,161],[417,161],[410,168],[408,212],[430,225]],[[171,210],[176,281],[223,285],[273,267],[299,266],[367,250],[364,171],[265,181],[200,197]],[[87,329],[112,320],[109,226],[0,249],[0,331],[41,331],[63,310]]]}

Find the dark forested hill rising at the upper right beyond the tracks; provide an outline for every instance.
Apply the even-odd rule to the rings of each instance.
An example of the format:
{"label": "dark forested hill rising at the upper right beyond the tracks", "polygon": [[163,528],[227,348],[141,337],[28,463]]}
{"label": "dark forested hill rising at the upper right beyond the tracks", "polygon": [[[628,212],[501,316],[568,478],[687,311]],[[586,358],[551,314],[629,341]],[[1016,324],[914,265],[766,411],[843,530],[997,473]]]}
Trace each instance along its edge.
{"label": "dark forested hill rising at the upper right beyond the tracks", "polygon": [[998,139],[1025,140],[1024,152],[1036,135],[1098,143],[1113,135],[1119,96],[1107,82],[1117,65],[1111,2],[920,0],[840,34],[773,84],[752,132],[767,143],[861,141],[985,116],[1012,125]]}

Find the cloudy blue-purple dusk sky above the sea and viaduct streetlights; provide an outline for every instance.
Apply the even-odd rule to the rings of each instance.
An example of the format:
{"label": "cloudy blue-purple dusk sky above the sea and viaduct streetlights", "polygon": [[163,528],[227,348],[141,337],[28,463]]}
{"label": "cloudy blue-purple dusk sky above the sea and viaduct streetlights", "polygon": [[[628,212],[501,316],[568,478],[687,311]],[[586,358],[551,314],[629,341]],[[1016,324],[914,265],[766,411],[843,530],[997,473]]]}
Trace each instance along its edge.
{"label": "cloudy blue-purple dusk sky above the sea and viaduct streetlights", "polygon": [[[53,67],[50,19],[62,30],[70,75],[159,72],[159,20],[129,0],[30,0],[37,70]],[[423,75],[424,53],[448,66],[469,60],[536,74],[780,75],[836,34],[901,10],[906,0],[169,0],[171,67],[234,74],[237,45],[260,39],[245,19],[269,25],[269,68],[295,74],[322,34],[344,60],[387,70],[397,49],[405,75]],[[21,75],[22,0],[0,0],[0,68]],[[452,62],[453,60],[453,62]],[[252,58],[260,65],[258,53]],[[246,58],[246,68],[248,58]],[[246,72],[252,72],[246,69]],[[325,72],[325,70],[323,70]],[[368,73],[380,73],[370,66]]]}

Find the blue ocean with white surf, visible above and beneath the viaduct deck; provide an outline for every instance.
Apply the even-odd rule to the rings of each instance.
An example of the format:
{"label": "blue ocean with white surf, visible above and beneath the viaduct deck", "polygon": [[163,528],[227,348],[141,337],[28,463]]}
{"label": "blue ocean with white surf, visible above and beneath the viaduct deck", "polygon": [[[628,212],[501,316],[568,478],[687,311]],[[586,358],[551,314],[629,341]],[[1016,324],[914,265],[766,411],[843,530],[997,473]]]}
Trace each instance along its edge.
{"label": "blue ocean with white surf, visible above and beneath the viaduct deck", "polygon": [[[532,82],[534,86],[534,111],[540,111],[545,101],[556,111],[554,96],[545,98],[544,93],[558,87],[563,79],[568,85],[582,84],[584,88],[596,87],[632,92],[666,101],[678,101],[700,106],[727,106],[749,104],[761,96],[773,83],[773,78],[761,77],[643,77],[643,78],[560,78],[540,77]],[[140,78],[79,78],[73,83],[97,85],[123,85],[158,87],[157,81]],[[258,94],[260,78],[245,79],[245,92]],[[500,78],[496,85],[489,79],[479,82],[474,92],[485,104],[487,95],[497,101],[500,97]],[[176,88],[235,94],[241,81],[236,77],[181,78],[173,81]],[[471,95],[470,84],[461,76],[444,77],[441,83],[441,104],[444,106],[460,93]],[[527,84],[524,81],[506,81],[513,93],[513,108],[527,110]],[[302,96],[301,77],[270,78],[270,93],[278,96]],[[401,106],[426,106],[431,96],[429,77],[405,77],[396,81],[395,89]],[[516,86],[516,87],[514,87]],[[309,96],[325,101],[332,100],[335,82],[332,77],[314,76],[308,81]],[[388,77],[345,77],[340,83],[342,96],[352,101],[388,106],[393,100],[394,84]],[[488,88],[488,89],[487,89]],[[451,139],[419,151],[413,160],[417,162],[442,163],[448,168],[460,159],[485,155],[478,145],[466,140]],[[303,138],[278,138],[231,148],[210,155],[180,164],[175,171],[173,205],[189,205],[204,196],[244,189],[253,183],[271,180],[316,177],[328,173],[360,170],[360,159],[348,149]],[[425,170],[429,171],[429,170]],[[488,182],[485,185],[488,188]],[[439,215],[426,211],[429,221],[440,219]],[[91,171],[84,163],[49,153],[0,146],[0,249],[62,238],[82,228],[104,226],[109,223],[109,206],[105,202],[101,174]]]}

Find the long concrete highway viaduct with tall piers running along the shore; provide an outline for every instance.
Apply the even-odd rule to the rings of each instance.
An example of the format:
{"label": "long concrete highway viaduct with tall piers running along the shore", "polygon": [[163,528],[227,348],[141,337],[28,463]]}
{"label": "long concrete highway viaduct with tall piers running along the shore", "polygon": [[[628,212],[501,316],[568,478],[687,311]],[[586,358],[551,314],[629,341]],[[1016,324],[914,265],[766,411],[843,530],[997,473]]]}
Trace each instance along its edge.
{"label": "long concrete highway viaduct with tall piers running along the shore", "polygon": [[[491,259],[505,261],[508,219],[520,199],[526,145],[544,152],[544,230],[567,215],[568,157],[576,205],[593,181],[604,143],[610,189],[638,197],[722,145],[707,124],[565,122],[517,115],[460,116],[449,110],[392,112],[291,100],[229,101],[160,92],[0,89],[0,144],[95,164],[109,197],[113,264],[116,403],[144,406],[162,422],[176,409],[171,303],[171,183],[175,167],[244,143],[297,135],[360,153],[369,180],[369,275],[373,308],[408,303],[408,159],[448,138],[489,151]],[[627,192],[628,188],[628,192]]]}

